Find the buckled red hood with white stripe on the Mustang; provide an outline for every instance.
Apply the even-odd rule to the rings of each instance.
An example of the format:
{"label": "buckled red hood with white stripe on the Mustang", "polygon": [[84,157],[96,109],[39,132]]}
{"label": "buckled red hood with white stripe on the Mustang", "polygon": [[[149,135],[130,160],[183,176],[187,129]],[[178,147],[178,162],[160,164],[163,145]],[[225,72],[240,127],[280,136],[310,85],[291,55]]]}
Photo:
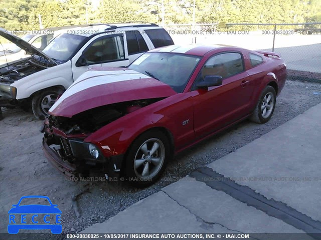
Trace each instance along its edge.
{"label": "buckled red hood with white stripe on the Mustang", "polygon": [[127,68],[89,70],[62,94],[49,113],[72,117],[98,106],[174,94],[168,84]]}

